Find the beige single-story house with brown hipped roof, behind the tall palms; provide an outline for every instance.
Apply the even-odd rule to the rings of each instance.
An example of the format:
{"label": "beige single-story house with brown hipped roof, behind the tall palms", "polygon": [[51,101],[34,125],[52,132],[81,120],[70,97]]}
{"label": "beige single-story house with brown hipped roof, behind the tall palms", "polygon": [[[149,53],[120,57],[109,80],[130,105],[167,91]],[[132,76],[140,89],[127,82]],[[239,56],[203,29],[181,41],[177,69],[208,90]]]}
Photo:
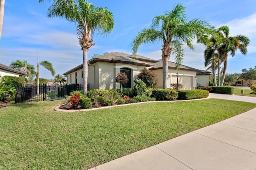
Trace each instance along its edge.
{"label": "beige single-story house with brown hipped roof, behind the tall palms", "polygon": [[[157,83],[154,85],[154,88],[163,88],[162,60],[154,60],[141,55],[133,57],[133,55],[119,52],[94,57],[88,61],[89,90],[119,89],[120,84],[115,83],[115,77],[120,72],[126,73],[128,77],[128,82],[122,85],[122,87],[132,88],[136,75],[144,67],[152,70],[157,76]],[[169,61],[167,88],[171,87],[171,83],[177,83],[177,71],[174,68],[175,63]],[[185,65],[180,66],[178,83],[183,85],[182,89],[194,89],[196,87],[196,72],[199,71]],[[64,75],[67,77],[67,84],[83,85],[83,64],[67,71]]]}

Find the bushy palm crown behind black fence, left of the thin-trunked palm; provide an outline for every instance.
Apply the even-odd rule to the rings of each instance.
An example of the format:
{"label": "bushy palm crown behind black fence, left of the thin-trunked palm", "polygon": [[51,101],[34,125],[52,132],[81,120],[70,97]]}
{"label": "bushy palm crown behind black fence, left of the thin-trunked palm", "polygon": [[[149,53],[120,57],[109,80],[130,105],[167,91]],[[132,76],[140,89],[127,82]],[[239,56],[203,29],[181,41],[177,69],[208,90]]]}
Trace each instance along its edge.
{"label": "bushy palm crown behind black fence, left of the thin-trunked palm", "polygon": [[27,63],[26,60],[21,61],[17,59],[16,61],[12,61],[12,63],[10,64],[10,67],[18,71],[21,71],[22,73],[28,74],[28,81],[30,82],[33,80],[33,77],[36,76],[34,65]]}

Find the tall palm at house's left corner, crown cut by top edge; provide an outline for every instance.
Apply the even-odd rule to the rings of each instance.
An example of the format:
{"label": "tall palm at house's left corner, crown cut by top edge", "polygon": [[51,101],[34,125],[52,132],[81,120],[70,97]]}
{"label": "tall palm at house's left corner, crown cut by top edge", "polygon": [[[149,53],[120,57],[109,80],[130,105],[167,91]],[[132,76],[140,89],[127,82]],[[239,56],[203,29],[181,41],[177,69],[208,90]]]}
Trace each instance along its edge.
{"label": "tall palm at house's left corner, crown cut by top edge", "polygon": [[84,95],[86,95],[88,49],[94,45],[92,35],[96,31],[102,35],[109,34],[114,28],[113,14],[108,8],[94,7],[86,0],[55,0],[48,9],[48,17],[54,16],[66,18],[77,24],[79,44],[83,51]]}

